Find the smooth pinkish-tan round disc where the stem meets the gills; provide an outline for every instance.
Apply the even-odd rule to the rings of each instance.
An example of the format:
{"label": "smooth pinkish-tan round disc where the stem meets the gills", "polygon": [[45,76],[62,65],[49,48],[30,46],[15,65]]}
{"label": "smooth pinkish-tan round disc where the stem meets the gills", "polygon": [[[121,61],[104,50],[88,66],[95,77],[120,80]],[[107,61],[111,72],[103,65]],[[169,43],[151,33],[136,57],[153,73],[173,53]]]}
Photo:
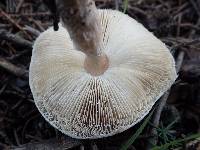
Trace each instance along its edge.
{"label": "smooth pinkish-tan round disc where the stem meets the gills", "polygon": [[109,67],[109,59],[106,54],[102,54],[100,56],[86,56],[84,62],[85,70],[93,75],[99,76],[103,74]]}

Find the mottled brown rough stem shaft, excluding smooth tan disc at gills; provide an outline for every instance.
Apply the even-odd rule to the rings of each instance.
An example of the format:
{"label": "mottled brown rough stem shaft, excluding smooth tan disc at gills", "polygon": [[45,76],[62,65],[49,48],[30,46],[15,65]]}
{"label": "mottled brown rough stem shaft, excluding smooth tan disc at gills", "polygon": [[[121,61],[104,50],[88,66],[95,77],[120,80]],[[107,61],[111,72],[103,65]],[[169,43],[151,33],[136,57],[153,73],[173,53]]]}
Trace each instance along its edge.
{"label": "mottled brown rough stem shaft, excluding smooth tan disc at gills", "polygon": [[56,0],[63,26],[75,47],[86,55],[101,55],[100,19],[93,0]]}

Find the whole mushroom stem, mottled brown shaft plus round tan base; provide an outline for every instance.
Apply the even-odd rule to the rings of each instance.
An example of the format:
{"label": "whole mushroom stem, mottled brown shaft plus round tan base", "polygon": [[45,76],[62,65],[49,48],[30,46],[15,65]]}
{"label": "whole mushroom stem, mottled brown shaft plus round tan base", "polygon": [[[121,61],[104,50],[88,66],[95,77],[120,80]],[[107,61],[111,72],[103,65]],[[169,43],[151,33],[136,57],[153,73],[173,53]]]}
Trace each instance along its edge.
{"label": "whole mushroom stem, mottled brown shaft plus round tan base", "polygon": [[56,0],[63,26],[75,47],[84,52],[85,70],[91,75],[103,74],[109,60],[100,49],[100,17],[93,0]]}

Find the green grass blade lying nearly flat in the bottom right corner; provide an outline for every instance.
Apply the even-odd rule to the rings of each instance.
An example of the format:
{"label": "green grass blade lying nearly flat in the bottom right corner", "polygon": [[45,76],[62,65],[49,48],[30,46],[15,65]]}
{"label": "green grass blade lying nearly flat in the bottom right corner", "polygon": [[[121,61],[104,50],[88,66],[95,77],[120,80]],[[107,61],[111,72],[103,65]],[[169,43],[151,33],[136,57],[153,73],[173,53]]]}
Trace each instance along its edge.
{"label": "green grass blade lying nearly flat in the bottom right corner", "polygon": [[200,137],[200,133],[193,134],[193,135],[186,137],[184,139],[178,139],[178,140],[171,141],[171,142],[166,143],[166,144],[161,145],[161,146],[156,146],[152,150],[165,150],[165,149],[168,149],[170,146],[180,145],[180,143],[182,143],[182,142],[186,142],[186,141],[196,139],[196,138],[199,138],[199,137]]}

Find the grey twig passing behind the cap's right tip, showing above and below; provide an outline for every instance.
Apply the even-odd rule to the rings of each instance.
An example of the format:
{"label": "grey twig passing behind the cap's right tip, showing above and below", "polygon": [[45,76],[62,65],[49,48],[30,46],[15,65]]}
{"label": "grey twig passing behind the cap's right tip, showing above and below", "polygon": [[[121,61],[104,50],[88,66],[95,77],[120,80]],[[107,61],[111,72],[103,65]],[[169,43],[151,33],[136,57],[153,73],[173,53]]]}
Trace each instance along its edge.
{"label": "grey twig passing behind the cap's right tip, showing above and below", "polygon": [[[184,55],[185,55],[185,53],[183,51],[181,51],[177,57],[177,60],[176,60],[176,71],[177,72],[179,72],[179,70],[182,66]],[[151,121],[152,128],[150,129],[150,132],[149,132],[150,135],[154,135],[154,136],[148,139],[148,143],[147,143],[147,147],[146,147],[147,150],[151,149],[152,145],[157,144],[158,135],[157,135],[156,128],[159,126],[160,116],[161,116],[162,110],[167,102],[169,94],[170,94],[170,89],[160,98],[158,106],[157,106],[156,110],[154,111],[154,116]]]}

